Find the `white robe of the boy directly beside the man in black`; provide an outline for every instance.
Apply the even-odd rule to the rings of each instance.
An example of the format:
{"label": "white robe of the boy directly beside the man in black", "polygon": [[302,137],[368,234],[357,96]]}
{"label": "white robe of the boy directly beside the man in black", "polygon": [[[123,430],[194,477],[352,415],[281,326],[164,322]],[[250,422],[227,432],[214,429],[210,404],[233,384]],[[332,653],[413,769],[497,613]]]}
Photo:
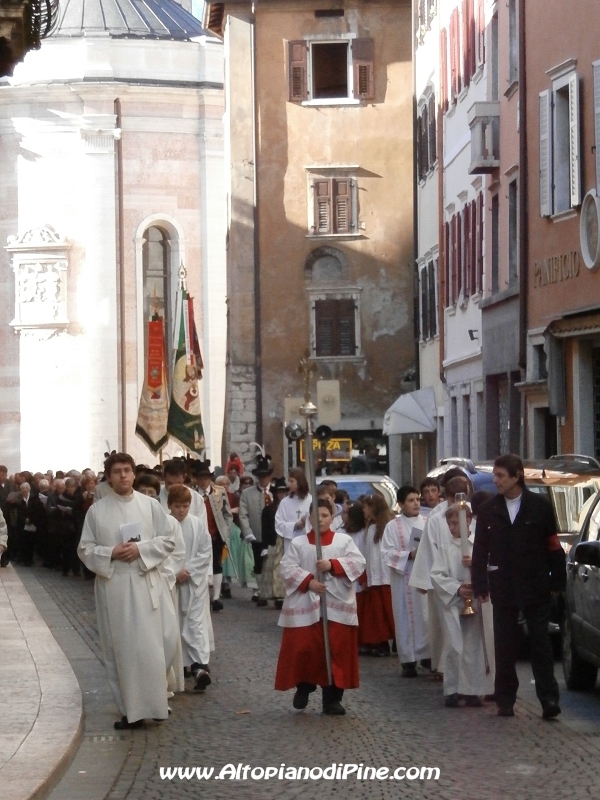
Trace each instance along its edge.
{"label": "white robe of the boy directly beside the man in black", "polygon": [[464,600],[457,592],[465,583],[460,539],[451,537],[440,546],[431,580],[444,609],[444,694],[491,694],[494,691],[492,604],[475,603],[477,614],[468,617],[460,614]]}

